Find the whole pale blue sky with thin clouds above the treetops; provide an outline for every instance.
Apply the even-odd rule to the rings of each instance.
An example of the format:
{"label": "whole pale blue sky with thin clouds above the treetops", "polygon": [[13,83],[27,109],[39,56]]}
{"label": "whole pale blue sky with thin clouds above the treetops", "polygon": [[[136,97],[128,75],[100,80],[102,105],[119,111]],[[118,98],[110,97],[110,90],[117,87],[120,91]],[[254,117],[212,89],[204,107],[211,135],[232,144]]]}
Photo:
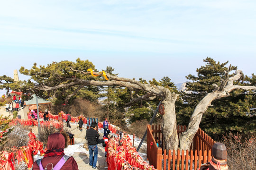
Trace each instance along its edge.
{"label": "whole pale blue sky with thin clouds above the treetops", "polygon": [[0,75],[80,58],[120,77],[178,84],[207,57],[251,75],[255,8],[255,0],[2,0]]}

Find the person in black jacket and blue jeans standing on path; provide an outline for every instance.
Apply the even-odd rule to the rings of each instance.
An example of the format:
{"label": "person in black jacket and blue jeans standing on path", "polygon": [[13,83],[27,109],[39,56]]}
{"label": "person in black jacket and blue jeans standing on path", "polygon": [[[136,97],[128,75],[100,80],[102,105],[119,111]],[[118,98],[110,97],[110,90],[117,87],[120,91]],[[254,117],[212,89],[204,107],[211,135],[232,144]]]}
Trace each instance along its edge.
{"label": "person in black jacket and blue jeans standing on path", "polygon": [[98,144],[104,143],[103,139],[99,139],[100,135],[97,129],[97,123],[94,121],[91,123],[91,128],[86,130],[85,139],[88,141],[89,148],[89,165],[92,166],[93,169],[96,169],[97,159],[98,159]]}

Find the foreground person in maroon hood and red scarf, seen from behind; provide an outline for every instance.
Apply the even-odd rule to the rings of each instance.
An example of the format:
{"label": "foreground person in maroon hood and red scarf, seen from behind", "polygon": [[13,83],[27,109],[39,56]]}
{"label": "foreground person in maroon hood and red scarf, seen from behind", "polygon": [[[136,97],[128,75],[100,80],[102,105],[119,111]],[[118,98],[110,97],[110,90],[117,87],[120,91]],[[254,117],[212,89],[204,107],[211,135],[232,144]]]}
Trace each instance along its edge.
{"label": "foreground person in maroon hood and red scarf, seen from behind", "polygon": [[63,158],[64,164],[60,170],[78,170],[77,163],[73,156],[64,154],[64,148],[68,146],[68,143],[69,137],[66,133],[54,133],[50,135],[48,137],[47,151],[44,158],[34,161],[32,170],[40,170],[40,161],[44,170],[53,170],[55,165]]}

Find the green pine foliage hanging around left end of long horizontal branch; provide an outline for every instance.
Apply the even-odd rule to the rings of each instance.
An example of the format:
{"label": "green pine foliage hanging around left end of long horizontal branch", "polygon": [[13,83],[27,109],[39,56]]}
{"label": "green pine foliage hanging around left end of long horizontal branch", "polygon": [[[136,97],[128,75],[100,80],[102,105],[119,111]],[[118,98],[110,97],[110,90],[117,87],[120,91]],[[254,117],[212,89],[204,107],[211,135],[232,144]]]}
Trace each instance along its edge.
{"label": "green pine foliage hanging around left end of long horizontal branch", "polygon": [[[73,69],[71,69],[73,68]],[[87,69],[92,68],[93,71],[98,72],[95,69],[95,66],[89,60],[81,60],[76,59],[76,62],[71,61],[60,61],[60,62],[52,62],[47,66],[39,66],[37,67],[37,63],[34,63],[34,66],[31,69],[25,69],[21,67],[19,72],[21,74],[30,76],[36,83],[33,84],[31,80],[28,80],[24,83],[19,82],[19,85],[16,87],[12,87],[12,89],[17,89],[24,93],[37,93],[37,95],[41,98],[52,98],[55,104],[61,104],[65,102],[65,99],[72,95],[76,90],[78,91],[76,95],[72,95],[69,98],[69,102],[72,102],[77,97],[83,97],[84,99],[90,101],[97,101],[98,98],[101,97],[100,92],[103,90],[102,87],[97,87],[94,85],[88,86],[76,86],[73,85],[71,87],[63,87],[56,88],[52,91],[42,90],[41,87],[43,85],[47,85],[49,87],[53,87],[56,85],[68,84],[73,82],[74,80],[79,81],[79,79],[84,80],[97,80],[103,81],[104,77],[102,76],[91,76],[84,75],[82,72],[87,72]],[[30,85],[33,88],[30,88]]]}

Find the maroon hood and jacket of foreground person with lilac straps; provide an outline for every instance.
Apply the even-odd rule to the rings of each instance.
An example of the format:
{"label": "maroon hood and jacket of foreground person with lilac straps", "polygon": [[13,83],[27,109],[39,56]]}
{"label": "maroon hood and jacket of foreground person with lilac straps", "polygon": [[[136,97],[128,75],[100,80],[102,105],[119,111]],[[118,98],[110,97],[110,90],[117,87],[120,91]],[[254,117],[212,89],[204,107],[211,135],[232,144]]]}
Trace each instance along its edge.
{"label": "maroon hood and jacket of foreground person with lilac straps", "polygon": [[[51,135],[52,136],[52,135]],[[65,147],[65,139],[63,136],[56,136],[53,135],[53,137],[48,138],[48,150],[53,150],[53,149],[57,149],[57,148],[63,148]],[[48,163],[52,163],[53,166],[55,166],[57,164],[58,161],[60,161],[60,159],[63,157],[63,155],[58,155],[58,156],[50,156],[50,157],[45,157],[42,159],[42,165],[43,168],[46,168],[46,165]],[[48,170],[51,170],[52,166],[47,166]],[[39,166],[37,165],[37,161],[35,161],[33,163],[33,170],[40,170]],[[62,166],[62,168],[60,170],[78,170],[78,166],[76,161],[74,160],[73,156],[70,156],[68,158],[68,160],[64,163],[64,165]]]}

